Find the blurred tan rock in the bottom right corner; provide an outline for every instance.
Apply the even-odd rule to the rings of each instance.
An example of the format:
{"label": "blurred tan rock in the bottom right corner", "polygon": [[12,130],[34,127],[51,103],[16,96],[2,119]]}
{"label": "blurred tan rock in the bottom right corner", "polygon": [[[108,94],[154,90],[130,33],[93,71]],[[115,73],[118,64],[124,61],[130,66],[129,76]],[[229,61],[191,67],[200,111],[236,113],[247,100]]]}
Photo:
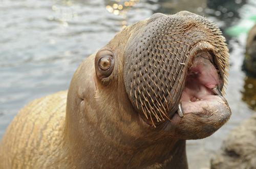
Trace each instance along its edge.
{"label": "blurred tan rock in the bottom right corner", "polygon": [[221,150],[211,159],[211,169],[256,168],[256,113],[232,130]]}

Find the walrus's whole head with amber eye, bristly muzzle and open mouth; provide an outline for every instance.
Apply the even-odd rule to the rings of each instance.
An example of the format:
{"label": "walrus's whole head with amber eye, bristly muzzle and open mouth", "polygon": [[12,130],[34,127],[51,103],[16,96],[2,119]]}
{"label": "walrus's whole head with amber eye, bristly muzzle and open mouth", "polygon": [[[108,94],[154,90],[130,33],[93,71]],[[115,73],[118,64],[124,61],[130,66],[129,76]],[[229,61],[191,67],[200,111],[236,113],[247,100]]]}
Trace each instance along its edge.
{"label": "walrus's whole head with amber eye, bristly muzzle and open mouth", "polygon": [[[81,88],[89,86],[89,80],[83,85],[79,80],[91,78],[84,73],[73,77],[79,97],[92,102],[76,111],[99,109],[95,125],[105,121],[109,125],[101,124],[105,135],[113,135],[110,131],[116,126],[116,131],[121,127],[134,137],[138,137],[135,130],[179,139],[207,137],[231,115],[225,98],[214,90],[222,90],[227,80],[229,56],[224,41],[214,23],[186,11],[157,13],[127,26],[94,54],[90,84],[95,87]],[[72,90],[71,83],[69,93]],[[71,106],[67,111],[74,111]]]}

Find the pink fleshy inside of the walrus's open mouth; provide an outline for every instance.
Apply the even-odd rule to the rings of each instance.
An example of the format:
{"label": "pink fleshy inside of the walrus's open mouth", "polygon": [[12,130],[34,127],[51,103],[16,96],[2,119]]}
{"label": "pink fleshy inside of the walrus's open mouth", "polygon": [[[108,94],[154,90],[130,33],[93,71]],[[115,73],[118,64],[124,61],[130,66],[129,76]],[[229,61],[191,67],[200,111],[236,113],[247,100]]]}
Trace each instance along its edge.
{"label": "pink fleshy inside of the walrus's open mouth", "polygon": [[199,56],[195,58],[186,77],[185,88],[181,96],[181,108],[179,115],[189,112],[208,112],[209,107],[218,107],[223,102],[222,98],[216,96],[217,87],[220,87],[220,79],[215,66],[208,57]]}

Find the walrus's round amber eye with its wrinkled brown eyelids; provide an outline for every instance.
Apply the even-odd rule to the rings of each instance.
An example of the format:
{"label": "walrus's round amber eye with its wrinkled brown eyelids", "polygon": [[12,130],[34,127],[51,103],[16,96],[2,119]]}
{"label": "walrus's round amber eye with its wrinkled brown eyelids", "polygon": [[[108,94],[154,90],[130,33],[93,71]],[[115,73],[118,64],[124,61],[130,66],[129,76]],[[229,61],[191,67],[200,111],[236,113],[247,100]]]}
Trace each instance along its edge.
{"label": "walrus's round amber eye with its wrinkled brown eyelids", "polygon": [[106,84],[108,77],[114,69],[114,54],[110,49],[101,49],[95,56],[96,75],[102,83]]}

